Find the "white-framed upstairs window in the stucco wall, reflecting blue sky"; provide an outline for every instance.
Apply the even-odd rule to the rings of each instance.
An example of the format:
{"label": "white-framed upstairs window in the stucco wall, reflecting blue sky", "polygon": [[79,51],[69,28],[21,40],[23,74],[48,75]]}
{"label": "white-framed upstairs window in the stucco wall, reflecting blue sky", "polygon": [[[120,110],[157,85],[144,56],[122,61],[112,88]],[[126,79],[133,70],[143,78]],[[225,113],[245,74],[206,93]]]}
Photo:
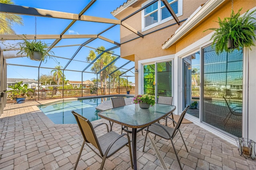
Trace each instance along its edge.
{"label": "white-framed upstairs window in the stucco wall, reflecting blue sky", "polygon": [[[151,1],[145,2],[142,6],[146,6]],[[168,0],[168,2],[176,16],[181,16],[182,0]],[[164,6],[164,3],[159,0],[142,11],[142,32],[172,19],[173,17]]]}

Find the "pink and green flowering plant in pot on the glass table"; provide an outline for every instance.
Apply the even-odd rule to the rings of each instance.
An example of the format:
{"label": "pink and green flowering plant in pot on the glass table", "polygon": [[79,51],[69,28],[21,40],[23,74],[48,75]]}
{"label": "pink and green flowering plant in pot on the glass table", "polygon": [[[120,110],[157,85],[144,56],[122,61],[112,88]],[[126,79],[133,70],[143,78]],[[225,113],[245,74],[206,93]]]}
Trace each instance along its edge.
{"label": "pink and green flowering plant in pot on the glass table", "polygon": [[133,98],[133,103],[139,104],[141,109],[148,109],[150,106],[155,105],[155,96],[154,95],[137,95]]}

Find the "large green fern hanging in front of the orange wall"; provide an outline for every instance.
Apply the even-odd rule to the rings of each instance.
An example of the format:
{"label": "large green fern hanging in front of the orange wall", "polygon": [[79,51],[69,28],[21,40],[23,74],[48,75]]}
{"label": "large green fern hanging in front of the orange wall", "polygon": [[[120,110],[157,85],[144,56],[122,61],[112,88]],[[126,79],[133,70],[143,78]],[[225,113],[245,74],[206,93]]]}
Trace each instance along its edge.
{"label": "large green fern hanging in front of the orange wall", "polygon": [[213,40],[212,46],[216,43],[215,51],[217,54],[222,51],[229,52],[234,49],[239,49],[239,47],[249,47],[250,50],[252,50],[250,46],[255,46],[252,38],[256,40],[256,34],[254,33],[256,23],[252,22],[254,19],[252,15],[256,10],[253,10],[249,14],[247,10],[246,13],[240,17],[241,10],[242,8],[240,8],[236,14],[232,10],[230,17],[226,17],[224,20],[218,18],[219,28],[208,29],[215,31],[211,40]]}

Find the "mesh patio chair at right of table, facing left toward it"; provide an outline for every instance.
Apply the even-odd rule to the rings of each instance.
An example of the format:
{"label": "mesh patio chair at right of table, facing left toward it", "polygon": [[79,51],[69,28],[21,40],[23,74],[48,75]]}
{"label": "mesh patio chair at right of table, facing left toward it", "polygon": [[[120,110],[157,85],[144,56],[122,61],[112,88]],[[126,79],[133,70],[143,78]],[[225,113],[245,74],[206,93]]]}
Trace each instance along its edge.
{"label": "mesh patio chair at right of table, facing left toward it", "polygon": [[[186,109],[184,109],[184,111],[181,113],[180,119],[178,120],[178,123],[176,123],[176,122],[172,119],[172,121],[174,121],[175,124],[176,124],[176,126],[173,127],[173,128],[172,128],[172,127],[165,126],[165,125],[162,125],[162,124],[160,124],[160,123],[154,123],[154,124],[148,126],[148,127],[147,127],[147,133],[146,133],[145,141],[144,141],[144,146],[143,146],[143,152],[144,152],[144,148],[145,148],[145,144],[146,144],[146,139],[147,139],[148,132],[151,132],[151,133],[153,133],[153,134],[156,134],[157,136],[160,136],[161,138],[165,138],[165,139],[167,139],[167,140],[170,139],[171,142],[172,142],[172,147],[173,147],[174,152],[175,152],[175,154],[176,154],[177,160],[178,160],[178,162],[179,162],[180,169],[182,169],[182,166],[181,166],[181,164],[180,164],[180,160],[179,160],[179,157],[178,157],[178,153],[177,153],[177,151],[176,151],[176,149],[175,149],[174,142],[173,142],[172,139],[175,137],[175,135],[177,134],[178,131],[180,132],[180,125],[181,125],[181,122],[182,122],[182,120],[183,120],[183,118],[184,118],[184,116],[185,116],[185,114],[186,114],[186,111],[188,110],[189,107],[190,107],[190,106],[187,106]],[[170,118],[170,117],[166,117],[166,119],[171,119],[171,118]],[[183,138],[181,132],[180,132],[180,136],[181,136],[181,138],[182,138],[182,140],[183,140],[183,143],[184,143],[184,145],[185,145],[185,147],[186,147],[186,150],[187,150],[187,152],[188,152],[188,148],[187,148],[187,146],[186,146],[186,143],[185,143],[185,141],[184,141],[184,138]]]}

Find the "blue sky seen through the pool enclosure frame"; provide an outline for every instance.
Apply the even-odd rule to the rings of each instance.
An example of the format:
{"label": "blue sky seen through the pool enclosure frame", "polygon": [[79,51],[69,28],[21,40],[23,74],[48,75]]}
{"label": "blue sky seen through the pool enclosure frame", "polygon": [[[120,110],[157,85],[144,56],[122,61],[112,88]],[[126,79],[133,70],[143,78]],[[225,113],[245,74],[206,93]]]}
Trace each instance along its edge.
{"label": "blue sky seen through the pool enclosure frame", "polygon": [[[33,8],[41,8],[46,10],[55,10],[61,12],[69,12],[78,14],[87,4],[88,0],[13,0],[14,4],[20,6],[28,6]],[[87,10],[84,15],[88,16],[97,16],[102,18],[111,18],[116,19],[110,14],[113,10],[116,10],[120,5],[122,5],[126,0],[97,0],[89,10]],[[24,26],[15,25],[13,28],[16,34],[35,34],[35,17],[34,16],[25,16],[21,15]],[[59,35],[67,26],[70,24],[71,20],[64,19],[56,19],[56,18],[45,18],[45,17],[36,17],[36,34],[54,34]],[[104,24],[104,23],[96,23],[96,22],[83,22],[77,21],[65,34],[98,34],[110,27],[112,24]],[[116,42],[120,42],[120,26],[115,26],[109,31],[101,34],[110,40],[114,40]],[[42,40],[45,43],[54,42],[55,39],[51,40]],[[88,39],[62,39],[56,46],[60,45],[77,45],[86,42]],[[6,41],[7,42],[7,41]],[[19,41],[15,41],[17,43]],[[13,43],[11,41],[10,43]],[[88,43],[87,46],[97,48],[103,45],[106,49],[114,47],[115,45],[104,40],[96,39],[91,43]],[[54,48],[54,55],[58,57],[71,58],[75,51],[79,46],[72,47],[58,47]],[[85,61],[85,58],[88,56],[90,50],[89,47],[82,47],[82,49],[78,52],[78,54],[74,57],[75,60]],[[12,51],[11,53],[17,53],[18,51]],[[120,55],[120,48],[114,49],[114,53]],[[119,59],[116,62],[116,66],[121,66],[126,63],[128,60]],[[66,65],[68,62],[67,59],[50,59],[47,63],[42,63],[41,67],[50,67],[54,68],[56,65],[60,64],[62,67]],[[15,58],[15,59],[7,59],[7,63],[11,64],[19,64],[19,65],[33,65],[38,67],[40,62],[32,61],[27,57]],[[68,70],[83,70],[88,63],[72,61],[70,65],[66,69]],[[130,69],[134,66],[134,62],[129,63],[126,69]],[[7,67],[7,77],[8,78],[38,78],[38,68],[32,67],[19,67],[8,65]],[[41,74],[50,74],[52,69],[40,69]],[[90,71],[90,67],[86,70]],[[125,71],[125,70],[123,70]],[[133,70],[134,72],[134,70]],[[74,71],[65,71],[64,74],[68,80],[73,81],[81,81],[81,73]],[[126,75],[133,75],[131,72]],[[83,80],[91,79],[96,77],[96,75],[92,73],[84,73]],[[134,78],[130,77],[128,81],[133,81]]]}

